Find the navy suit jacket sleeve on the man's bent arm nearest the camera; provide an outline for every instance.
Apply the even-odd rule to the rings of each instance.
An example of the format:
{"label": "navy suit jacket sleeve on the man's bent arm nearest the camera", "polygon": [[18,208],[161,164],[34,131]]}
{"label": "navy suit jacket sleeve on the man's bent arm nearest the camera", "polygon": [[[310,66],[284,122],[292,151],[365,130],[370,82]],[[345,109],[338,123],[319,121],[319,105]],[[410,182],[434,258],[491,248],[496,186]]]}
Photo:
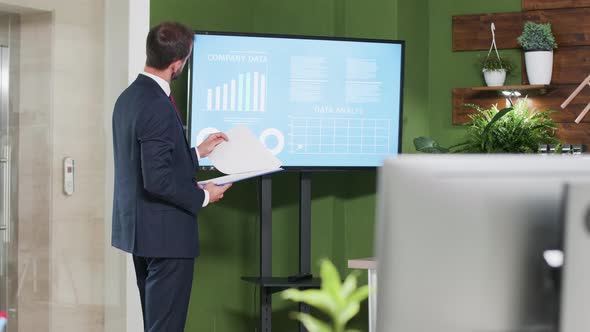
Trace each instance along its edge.
{"label": "navy suit jacket sleeve on the man's bent arm nearest the camera", "polygon": [[[170,105],[165,101],[152,103],[138,118],[143,187],[148,193],[197,215],[205,194],[192,180],[178,181],[178,174],[174,174],[174,150],[185,147],[175,141],[181,129],[174,113],[167,108]],[[187,175],[187,179],[192,176]]]}

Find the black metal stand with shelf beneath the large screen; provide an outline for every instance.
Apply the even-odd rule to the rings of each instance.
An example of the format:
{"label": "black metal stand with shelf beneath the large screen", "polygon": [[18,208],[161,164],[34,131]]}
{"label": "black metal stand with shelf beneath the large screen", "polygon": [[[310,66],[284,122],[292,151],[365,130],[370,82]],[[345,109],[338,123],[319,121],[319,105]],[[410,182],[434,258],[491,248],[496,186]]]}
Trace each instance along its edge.
{"label": "black metal stand with shelf beneath the large screen", "polygon": [[[319,278],[311,274],[311,172],[299,174],[299,273],[289,277],[272,276],[272,180],[260,177],[260,276],[242,277],[260,287],[260,331],[272,331],[272,294],[288,288],[320,288]],[[299,311],[309,313],[300,303]],[[299,331],[307,331],[299,324]]]}

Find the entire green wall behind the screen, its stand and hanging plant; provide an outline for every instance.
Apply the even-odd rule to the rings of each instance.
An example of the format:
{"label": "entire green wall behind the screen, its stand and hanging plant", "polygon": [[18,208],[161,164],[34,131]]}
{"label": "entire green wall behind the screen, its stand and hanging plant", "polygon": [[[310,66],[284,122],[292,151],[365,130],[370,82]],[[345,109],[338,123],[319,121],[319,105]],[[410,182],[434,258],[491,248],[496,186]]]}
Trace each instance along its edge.
{"label": "entire green wall behind the screen, its stand and hanging plant", "polygon": [[[414,152],[412,139],[432,136],[455,143],[462,128],[451,125],[451,91],[478,86],[477,52],[451,51],[451,17],[467,13],[520,10],[520,0],[151,0],[151,23],[174,20],[197,30],[282,33],[406,41],[402,148]],[[501,27],[497,27],[501,29]],[[508,52],[518,59],[518,51]],[[514,61],[520,66],[520,61]],[[520,77],[517,68],[510,82]],[[179,108],[186,112],[186,75],[173,84]],[[209,177],[214,174],[201,174]],[[330,258],[348,273],[349,258],[373,255],[374,171],[313,175],[312,262]],[[273,274],[296,273],[298,266],[298,177],[273,176]],[[235,184],[220,203],[200,216],[202,255],[186,331],[255,331],[258,290],[240,281],[257,275],[258,186]],[[361,275],[363,283],[366,274]],[[295,310],[273,297],[273,328],[295,331],[288,317]],[[367,330],[366,303],[351,327]]]}

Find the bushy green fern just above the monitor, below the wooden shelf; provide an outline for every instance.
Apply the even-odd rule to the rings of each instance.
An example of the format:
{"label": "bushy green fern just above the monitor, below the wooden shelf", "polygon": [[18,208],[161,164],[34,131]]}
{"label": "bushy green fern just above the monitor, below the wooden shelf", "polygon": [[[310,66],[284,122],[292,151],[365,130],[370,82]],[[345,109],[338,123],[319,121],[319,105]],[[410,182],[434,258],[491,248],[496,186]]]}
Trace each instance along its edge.
{"label": "bushy green fern just above the monitor, below the wooden shelf", "polygon": [[499,110],[496,105],[482,109],[466,105],[478,112],[470,115],[465,141],[449,148],[436,141],[418,137],[414,139],[417,151],[427,153],[535,153],[539,144],[557,144],[553,137],[557,125],[549,117],[555,111],[537,112],[529,109],[526,98],[514,107]]}

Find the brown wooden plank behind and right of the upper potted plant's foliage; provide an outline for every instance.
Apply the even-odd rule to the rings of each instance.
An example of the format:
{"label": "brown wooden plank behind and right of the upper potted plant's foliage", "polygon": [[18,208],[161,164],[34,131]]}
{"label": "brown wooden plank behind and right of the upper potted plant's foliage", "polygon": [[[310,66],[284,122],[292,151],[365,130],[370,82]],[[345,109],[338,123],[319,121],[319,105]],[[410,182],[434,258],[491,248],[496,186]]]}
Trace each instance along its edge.
{"label": "brown wooden plank behind and right of the upper potted plant's foliage", "polygon": [[[551,23],[551,30],[557,41],[557,46],[560,48],[590,45],[589,18],[590,8],[540,10],[523,13],[523,22]],[[522,26],[520,29],[522,30]]]}

